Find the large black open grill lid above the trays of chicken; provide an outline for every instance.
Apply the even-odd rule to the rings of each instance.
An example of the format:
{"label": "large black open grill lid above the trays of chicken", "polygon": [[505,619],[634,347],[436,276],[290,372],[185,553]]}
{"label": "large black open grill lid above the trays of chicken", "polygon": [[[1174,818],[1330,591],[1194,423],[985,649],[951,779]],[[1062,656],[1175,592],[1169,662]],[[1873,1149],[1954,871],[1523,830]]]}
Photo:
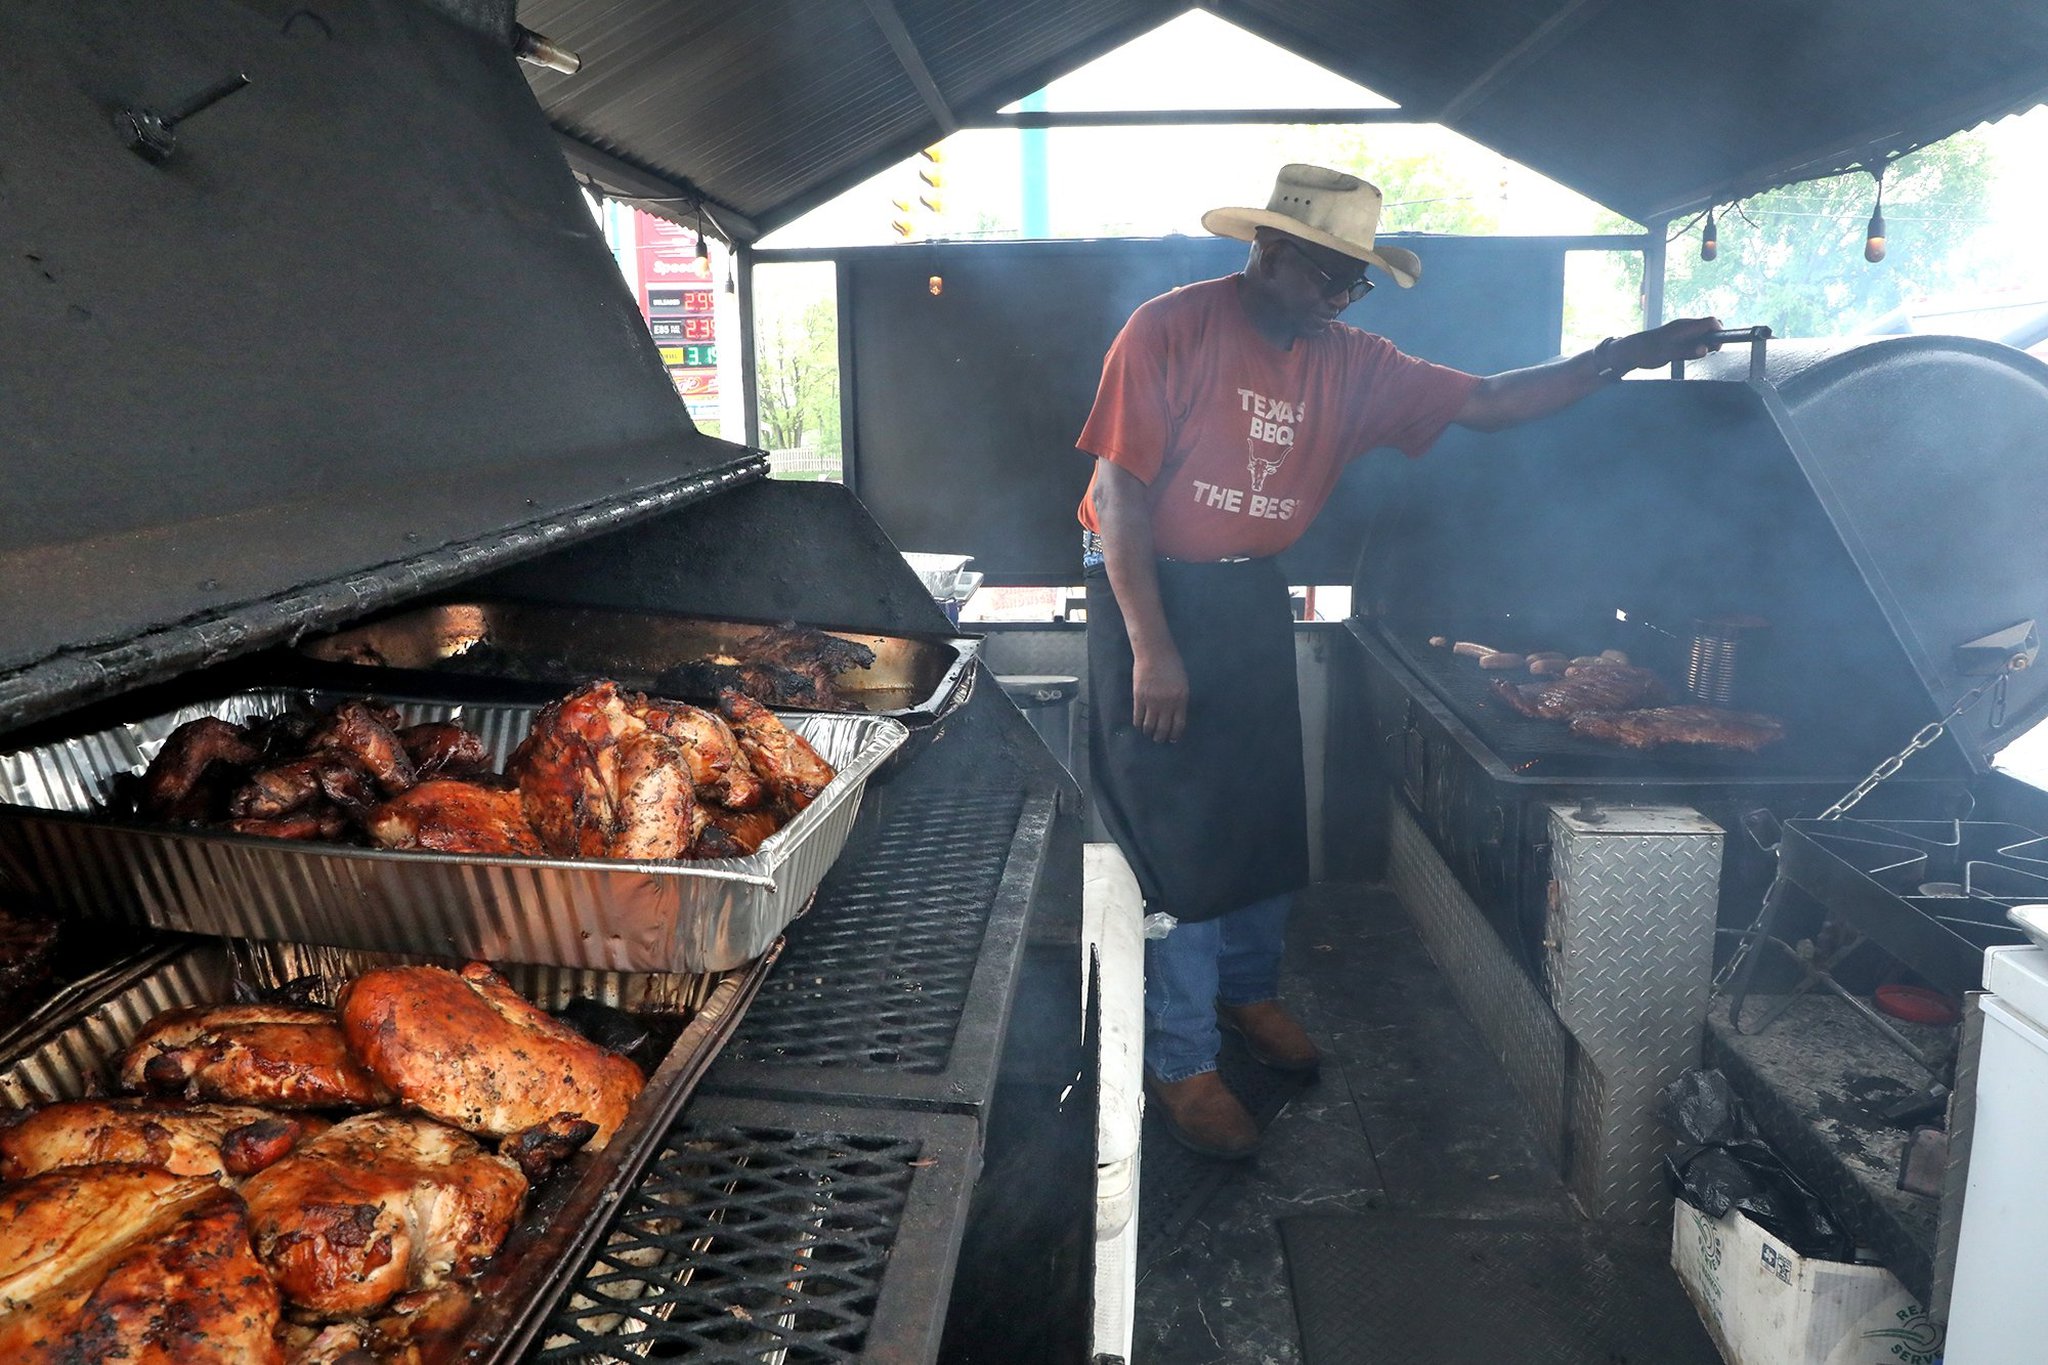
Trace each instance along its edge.
{"label": "large black open grill lid above the trays of chicken", "polygon": [[0,731],[760,477],[504,43],[418,0],[8,29]]}

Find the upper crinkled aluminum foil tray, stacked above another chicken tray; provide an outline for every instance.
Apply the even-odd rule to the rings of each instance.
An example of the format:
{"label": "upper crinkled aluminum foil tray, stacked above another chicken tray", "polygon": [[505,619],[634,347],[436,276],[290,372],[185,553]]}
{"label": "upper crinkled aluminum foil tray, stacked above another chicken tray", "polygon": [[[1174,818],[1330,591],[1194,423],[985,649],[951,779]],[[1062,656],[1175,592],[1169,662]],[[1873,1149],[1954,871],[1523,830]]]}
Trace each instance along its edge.
{"label": "upper crinkled aluminum foil tray, stacked above another chicken tray", "polygon": [[[762,956],[817,890],[868,776],[907,737],[887,716],[786,714],[838,778],[748,857],[483,857],[170,829],[102,814],[199,716],[248,720],[342,694],[266,690],[0,755],[0,876],[66,915],[242,939],[532,962],[725,972]],[[537,706],[393,702],[408,724],[461,720],[498,763]]]}

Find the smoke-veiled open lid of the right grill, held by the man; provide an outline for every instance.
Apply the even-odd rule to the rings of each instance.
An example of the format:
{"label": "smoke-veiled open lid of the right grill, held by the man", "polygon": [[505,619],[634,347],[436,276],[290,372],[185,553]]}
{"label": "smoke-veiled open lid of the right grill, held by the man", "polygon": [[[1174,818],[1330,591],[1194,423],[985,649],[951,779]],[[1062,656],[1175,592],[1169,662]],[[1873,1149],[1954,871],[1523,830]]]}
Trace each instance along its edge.
{"label": "smoke-veiled open lid of the right grill, held by the man", "polygon": [[[1724,352],[1456,434],[1405,473],[1366,542],[1364,614],[1626,610],[1675,634],[1763,616],[1769,675],[1743,704],[1866,767],[1985,681],[1960,647],[2048,628],[2048,366],[1991,342],[1772,342],[1757,381]],[[1974,772],[2048,712],[2048,669],[2003,692],[1952,724]]]}

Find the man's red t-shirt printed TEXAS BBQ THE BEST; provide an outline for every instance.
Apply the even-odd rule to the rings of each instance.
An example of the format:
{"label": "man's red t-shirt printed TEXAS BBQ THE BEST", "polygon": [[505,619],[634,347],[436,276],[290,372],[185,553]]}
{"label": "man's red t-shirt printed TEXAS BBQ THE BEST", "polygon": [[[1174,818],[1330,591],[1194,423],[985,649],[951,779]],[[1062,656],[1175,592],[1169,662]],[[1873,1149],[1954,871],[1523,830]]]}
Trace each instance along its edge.
{"label": "man's red t-shirt printed TEXAS BBQ THE BEST", "polygon": [[[1075,442],[1151,487],[1167,559],[1278,555],[1323,510],[1354,456],[1419,456],[1479,383],[1335,323],[1280,350],[1245,317],[1237,276],[1141,305],[1102,362]],[[1081,526],[1096,526],[1096,485]]]}

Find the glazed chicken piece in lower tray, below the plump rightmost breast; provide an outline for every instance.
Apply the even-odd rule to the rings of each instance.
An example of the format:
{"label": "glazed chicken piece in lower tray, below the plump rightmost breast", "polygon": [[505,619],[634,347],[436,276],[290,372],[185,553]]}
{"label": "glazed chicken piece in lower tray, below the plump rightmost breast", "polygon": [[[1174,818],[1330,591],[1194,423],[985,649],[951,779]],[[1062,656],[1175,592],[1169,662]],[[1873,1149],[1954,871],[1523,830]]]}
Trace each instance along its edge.
{"label": "glazed chicken piece in lower tray, below the plump rightmost breast", "polygon": [[328,1318],[473,1275],[504,1242],[526,1177],[446,1124],[358,1113],[242,1187],[256,1259]]}

